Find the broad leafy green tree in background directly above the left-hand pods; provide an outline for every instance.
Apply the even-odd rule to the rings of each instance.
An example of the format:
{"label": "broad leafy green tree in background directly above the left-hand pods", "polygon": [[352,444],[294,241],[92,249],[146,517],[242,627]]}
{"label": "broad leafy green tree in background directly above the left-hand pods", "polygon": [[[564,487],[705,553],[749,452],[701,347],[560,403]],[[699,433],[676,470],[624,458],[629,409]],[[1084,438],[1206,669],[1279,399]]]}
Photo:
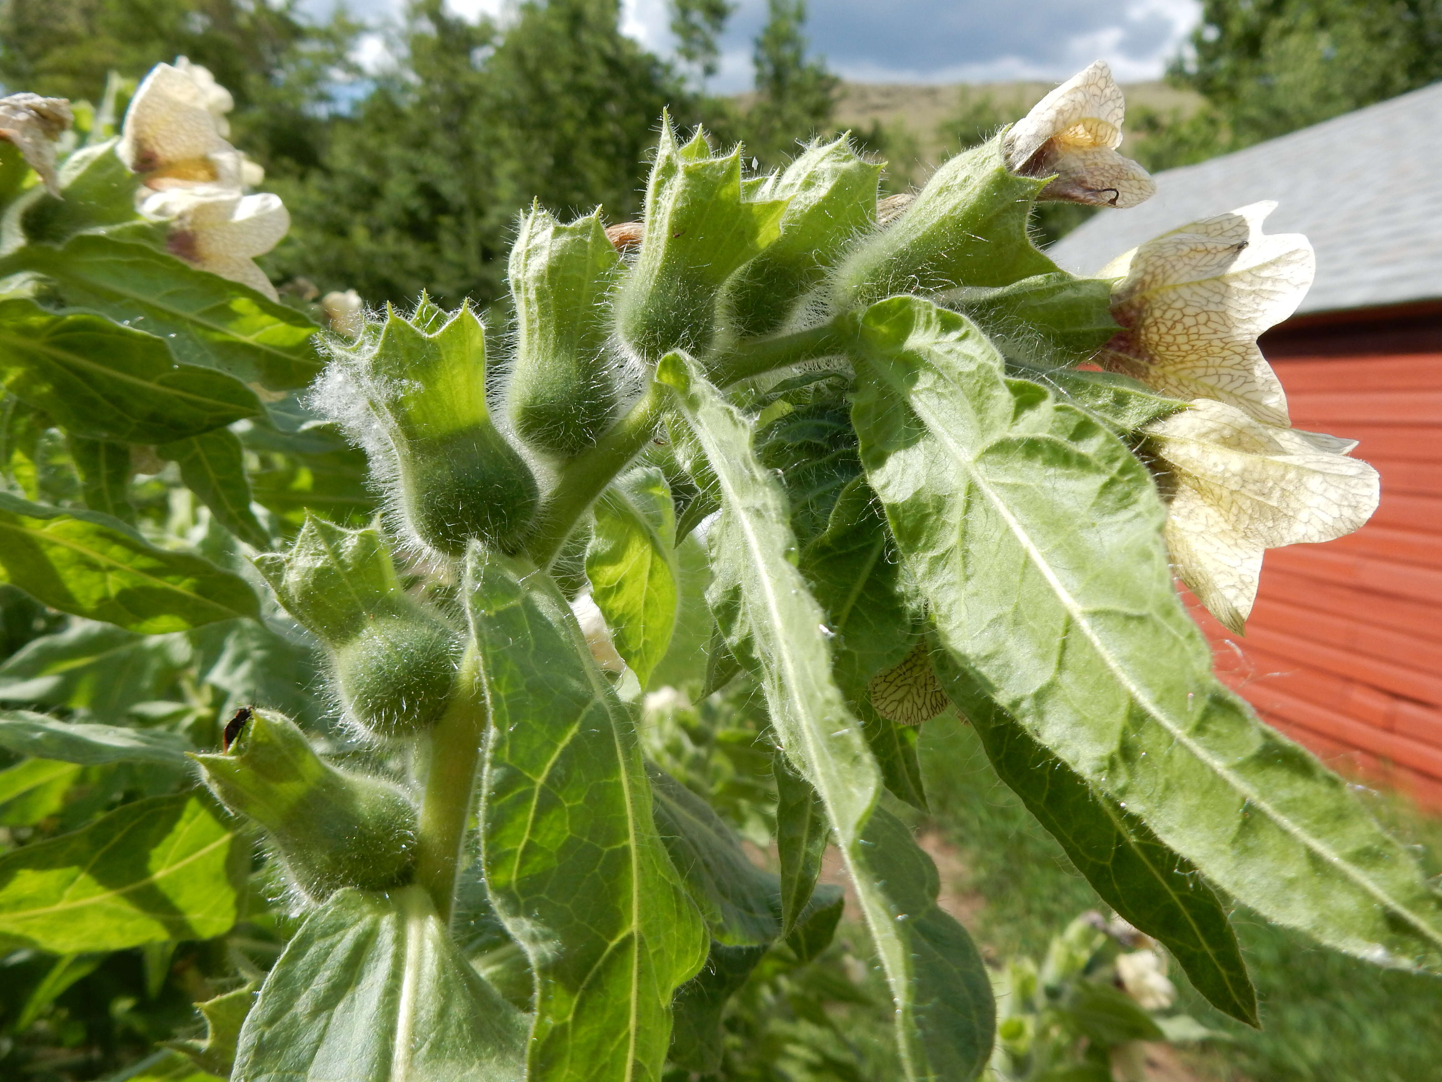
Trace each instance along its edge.
{"label": "broad leafy green tree in background directly above the left-hand pods", "polygon": [[404,63],[332,120],[317,167],[281,186],[296,231],[277,274],[371,303],[421,290],[490,303],[523,206],[626,221],[656,117],[699,118],[679,78],[622,35],[617,0],[526,3],[503,35],[423,0],[405,43]]}

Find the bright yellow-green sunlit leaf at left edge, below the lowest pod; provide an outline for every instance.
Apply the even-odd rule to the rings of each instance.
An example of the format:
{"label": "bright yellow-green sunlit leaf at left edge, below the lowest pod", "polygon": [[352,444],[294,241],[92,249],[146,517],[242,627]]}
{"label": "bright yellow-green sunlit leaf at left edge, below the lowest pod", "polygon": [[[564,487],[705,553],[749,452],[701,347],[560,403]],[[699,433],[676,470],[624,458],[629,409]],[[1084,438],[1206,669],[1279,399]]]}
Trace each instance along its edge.
{"label": "bright yellow-green sunlit leaf at left edge, below the lowest pod", "polygon": [[209,939],[235,923],[251,844],[202,793],[127,804],[0,857],[0,936],[53,954]]}

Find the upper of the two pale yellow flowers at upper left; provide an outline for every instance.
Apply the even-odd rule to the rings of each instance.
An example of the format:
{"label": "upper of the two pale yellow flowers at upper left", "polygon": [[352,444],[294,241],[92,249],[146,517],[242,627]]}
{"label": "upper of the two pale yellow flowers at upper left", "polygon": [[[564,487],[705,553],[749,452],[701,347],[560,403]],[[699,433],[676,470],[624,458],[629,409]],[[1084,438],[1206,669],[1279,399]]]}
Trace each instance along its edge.
{"label": "upper of the two pale yellow flowers at upper left", "polygon": [[140,84],[121,126],[120,160],[154,190],[260,183],[264,170],[225,140],[229,92],[205,68],[180,61],[157,63]]}

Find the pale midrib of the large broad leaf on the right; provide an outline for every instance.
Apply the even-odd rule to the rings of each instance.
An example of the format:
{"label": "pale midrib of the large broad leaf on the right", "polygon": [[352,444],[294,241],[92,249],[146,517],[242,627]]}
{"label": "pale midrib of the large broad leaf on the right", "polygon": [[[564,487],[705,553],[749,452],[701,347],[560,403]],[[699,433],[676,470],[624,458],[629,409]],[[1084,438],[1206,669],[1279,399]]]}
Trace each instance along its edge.
{"label": "pale midrib of the large broad leaf on the right", "polygon": [[975,469],[970,454],[968,454],[960,444],[957,444],[955,440],[950,439],[945,423],[940,421],[936,411],[927,408],[926,397],[911,395],[910,403],[911,408],[916,410],[916,413],[926,423],[927,431],[930,431],[932,436],[934,436],[947,449],[947,452],[950,452],[952,457],[960,465],[962,470],[966,473],[969,480],[982,492],[982,495],[992,505],[992,508],[995,508],[996,514],[1007,524],[1007,528],[1017,538],[1017,542],[1027,553],[1028,560],[1031,560],[1032,566],[1035,566],[1035,568],[1041,571],[1041,576],[1047,580],[1047,584],[1057,596],[1057,600],[1061,603],[1061,607],[1066,609],[1073,623],[1082,630],[1087,642],[1092,643],[1092,648],[1097,652],[1097,656],[1102,658],[1107,671],[1110,671],[1110,674],[1116,678],[1116,682],[1126,690],[1128,695],[1131,695],[1132,700],[1139,707],[1142,707],[1149,717],[1152,717],[1159,726],[1162,726],[1162,729],[1165,729],[1178,744],[1185,747],[1193,756],[1195,756],[1198,762],[1204,763],[1207,767],[1214,770],[1220,778],[1226,779],[1226,782],[1233,789],[1236,789],[1242,796],[1244,796],[1249,804],[1262,811],[1283,832],[1289,834],[1302,845],[1308,847],[1309,850],[1321,856],[1325,861],[1328,861],[1338,871],[1341,871],[1345,879],[1351,880],[1358,887],[1361,887],[1381,906],[1405,916],[1419,932],[1422,932],[1425,938],[1436,944],[1442,944],[1442,933],[1432,929],[1428,925],[1428,922],[1423,920],[1419,915],[1413,913],[1410,909],[1403,906],[1390,894],[1374,886],[1368,879],[1358,874],[1351,864],[1343,860],[1321,840],[1312,837],[1309,832],[1306,832],[1295,822],[1292,822],[1288,817],[1282,815],[1282,812],[1273,808],[1272,804],[1266,798],[1263,798],[1262,793],[1259,793],[1253,786],[1247,785],[1234,772],[1227,769],[1226,765],[1223,765],[1218,759],[1211,756],[1204,747],[1201,747],[1191,737],[1188,737],[1187,733],[1177,723],[1174,723],[1167,716],[1167,713],[1162,711],[1161,707],[1151,700],[1149,695],[1146,695],[1141,688],[1136,687],[1136,684],[1128,677],[1126,671],[1119,665],[1116,658],[1112,656],[1112,652],[1105,646],[1096,629],[1086,619],[1086,610],[1071,596],[1067,587],[1061,583],[1061,579],[1057,576],[1056,570],[1053,570],[1051,564],[1047,563],[1041,550],[1032,542],[1031,535],[1025,531],[1025,528],[1021,525],[1017,516],[1011,514],[1011,508],[1008,508],[1005,501],[1002,501],[1001,496],[998,496],[996,492],[992,491],[991,485],[986,483],[986,479],[981,475],[981,472]]}

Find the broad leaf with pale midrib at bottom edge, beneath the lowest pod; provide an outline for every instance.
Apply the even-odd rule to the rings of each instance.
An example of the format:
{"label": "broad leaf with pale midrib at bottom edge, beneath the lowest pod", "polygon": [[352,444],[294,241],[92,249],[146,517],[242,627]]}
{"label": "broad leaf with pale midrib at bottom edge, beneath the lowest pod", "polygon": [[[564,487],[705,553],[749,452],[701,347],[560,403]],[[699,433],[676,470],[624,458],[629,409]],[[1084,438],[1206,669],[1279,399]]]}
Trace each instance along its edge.
{"label": "broad leaf with pale midrib at bottom edge, beneath the lowest pod", "polygon": [[420,887],[342,890],[286,945],[232,1082],[521,1082],[525,1019],[472,969]]}

